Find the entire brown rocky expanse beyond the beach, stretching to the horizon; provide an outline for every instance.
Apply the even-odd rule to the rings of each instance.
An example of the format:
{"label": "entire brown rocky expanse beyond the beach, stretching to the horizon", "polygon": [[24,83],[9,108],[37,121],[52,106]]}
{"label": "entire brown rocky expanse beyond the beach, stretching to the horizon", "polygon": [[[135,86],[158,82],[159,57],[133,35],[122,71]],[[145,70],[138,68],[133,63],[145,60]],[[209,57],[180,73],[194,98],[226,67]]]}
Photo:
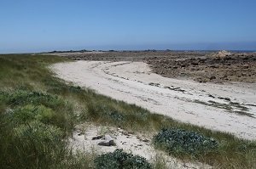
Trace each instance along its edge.
{"label": "entire brown rocky expanse beyond the beach, stretching to the horizon", "polygon": [[133,51],[55,54],[74,60],[143,61],[161,76],[197,82],[256,82],[256,53]]}

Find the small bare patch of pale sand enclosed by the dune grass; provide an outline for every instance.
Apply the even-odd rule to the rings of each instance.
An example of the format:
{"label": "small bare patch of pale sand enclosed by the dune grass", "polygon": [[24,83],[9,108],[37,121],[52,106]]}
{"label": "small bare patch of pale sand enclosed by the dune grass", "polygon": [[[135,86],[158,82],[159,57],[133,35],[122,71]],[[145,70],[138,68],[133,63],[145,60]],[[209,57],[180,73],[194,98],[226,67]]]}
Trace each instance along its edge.
{"label": "small bare patch of pale sand enclosed by the dune grass", "polygon": [[[101,139],[92,140],[97,135],[110,134],[116,145],[114,146],[100,146]],[[133,155],[140,155],[146,158],[149,162],[154,163],[158,157],[161,161],[166,163],[168,168],[212,168],[200,162],[180,161],[167,155],[165,152],[154,149],[150,143],[152,135],[146,133],[130,133],[121,128],[95,126],[92,124],[83,124],[77,126],[76,132],[73,132],[73,138],[70,138],[70,147],[72,149],[83,150],[88,153],[104,154],[113,152],[115,149],[124,149],[127,153]]]}

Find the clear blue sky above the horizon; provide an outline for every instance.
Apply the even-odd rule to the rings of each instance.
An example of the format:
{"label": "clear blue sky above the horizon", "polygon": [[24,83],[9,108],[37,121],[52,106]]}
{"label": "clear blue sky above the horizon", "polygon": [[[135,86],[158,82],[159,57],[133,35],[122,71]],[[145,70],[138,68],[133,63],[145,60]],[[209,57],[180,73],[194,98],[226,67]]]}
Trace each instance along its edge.
{"label": "clear blue sky above the horizon", "polygon": [[255,0],[0,0],[0,53],[256,50]]}

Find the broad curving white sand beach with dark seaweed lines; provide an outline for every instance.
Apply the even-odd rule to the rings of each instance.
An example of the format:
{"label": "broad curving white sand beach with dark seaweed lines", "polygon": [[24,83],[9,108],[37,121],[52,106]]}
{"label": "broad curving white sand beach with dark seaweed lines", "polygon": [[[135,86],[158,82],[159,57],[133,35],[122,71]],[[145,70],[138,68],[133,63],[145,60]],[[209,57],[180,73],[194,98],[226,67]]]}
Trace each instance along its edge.
{"label": "broad curving white sand beach with dark seaweed lines", "polygon": [[[178,121],[256,139],[256,106],[253,106],[256,105],[256,84],[220,85],[166,78],[151,73],[143,62],[76,61],[53,65],[52,70],[68,82],[90,87],[113,99],[137,104]],[[180,88],[173,90],[176,87]],[[218,97],[229,98],[247,110],[241,110]],[[209,100],[222,107],[207,105]],[[251,116],[234,113],[235,110],[250,113]]]}

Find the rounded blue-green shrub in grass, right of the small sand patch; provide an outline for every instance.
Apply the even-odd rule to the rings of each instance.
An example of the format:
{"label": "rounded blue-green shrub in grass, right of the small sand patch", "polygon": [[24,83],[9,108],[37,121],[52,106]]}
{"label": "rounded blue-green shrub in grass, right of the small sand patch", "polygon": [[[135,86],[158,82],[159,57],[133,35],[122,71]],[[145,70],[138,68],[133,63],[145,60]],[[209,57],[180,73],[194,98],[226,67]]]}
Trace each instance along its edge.
{"label": "rounded blue-green shrub in grass, right of the small sand patch", "polygon": [[218,142],[213,138],[177,128],[162,129],[154,136],[154,144],[174,155],[201,155],[218,148]]}

